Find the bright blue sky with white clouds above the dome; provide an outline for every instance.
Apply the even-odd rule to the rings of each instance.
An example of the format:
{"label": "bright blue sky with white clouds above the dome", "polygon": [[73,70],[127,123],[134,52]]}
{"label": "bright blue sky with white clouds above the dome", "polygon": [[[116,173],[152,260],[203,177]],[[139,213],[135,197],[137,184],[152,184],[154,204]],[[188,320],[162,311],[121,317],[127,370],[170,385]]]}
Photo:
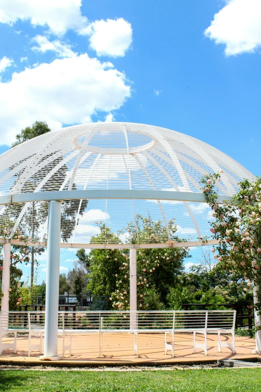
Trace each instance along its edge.
{"label": "bright blue sky with white clouds above the dome", "polygon": [[[196,137],[260,175],[260,26],[259,0],[2,0],[0,153],[35,120],[127,121]],[[64,271],[73,258],[61,251]]]}

